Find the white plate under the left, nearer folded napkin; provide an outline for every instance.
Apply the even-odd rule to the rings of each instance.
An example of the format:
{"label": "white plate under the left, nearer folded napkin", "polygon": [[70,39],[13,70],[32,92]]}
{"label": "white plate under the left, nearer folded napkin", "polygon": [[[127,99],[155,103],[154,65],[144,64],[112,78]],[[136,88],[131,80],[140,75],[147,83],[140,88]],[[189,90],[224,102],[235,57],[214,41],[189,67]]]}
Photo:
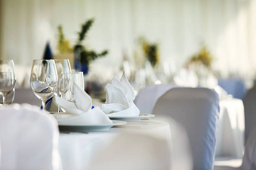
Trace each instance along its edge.
{"label": "white plate under the left, nearer folded napkin", "polygon": [[113,120],[113,123],[111,124],[83,125],[83,126],[59,125],[59,130],[66,131],[66,132],[96,132],[96,131],[106,131],[113,126],[124,125],[124,124],[126,124],[126,122],[120,121],[120,120]]}

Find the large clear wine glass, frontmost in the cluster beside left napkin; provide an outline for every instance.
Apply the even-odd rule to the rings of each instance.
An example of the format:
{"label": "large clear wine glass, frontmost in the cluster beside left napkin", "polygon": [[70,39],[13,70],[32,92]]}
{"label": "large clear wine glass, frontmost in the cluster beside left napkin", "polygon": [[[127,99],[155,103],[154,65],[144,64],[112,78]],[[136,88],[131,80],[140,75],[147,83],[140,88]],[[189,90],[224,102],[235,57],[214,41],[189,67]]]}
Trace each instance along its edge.
{"label": "large clear wine glass, frontmost in the cluster beside left napkin", "polygon": [[58,84],[58,74],[54,60],[33,60],[30,75],[30,86],[45,110],[46,100],[55,92]]}

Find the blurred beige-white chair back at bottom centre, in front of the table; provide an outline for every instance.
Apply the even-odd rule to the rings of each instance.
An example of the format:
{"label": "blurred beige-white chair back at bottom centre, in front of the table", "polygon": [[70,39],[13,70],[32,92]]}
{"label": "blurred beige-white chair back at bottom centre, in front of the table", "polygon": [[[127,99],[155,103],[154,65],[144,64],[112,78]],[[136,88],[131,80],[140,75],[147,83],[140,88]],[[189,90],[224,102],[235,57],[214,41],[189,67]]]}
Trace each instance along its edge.
{"label": "blurred beige-white chair back at bottom centre, in front of the table", "polygon": [[170,143],[141,133],[120,133],[106,142],[88,170],[170,170]]}

